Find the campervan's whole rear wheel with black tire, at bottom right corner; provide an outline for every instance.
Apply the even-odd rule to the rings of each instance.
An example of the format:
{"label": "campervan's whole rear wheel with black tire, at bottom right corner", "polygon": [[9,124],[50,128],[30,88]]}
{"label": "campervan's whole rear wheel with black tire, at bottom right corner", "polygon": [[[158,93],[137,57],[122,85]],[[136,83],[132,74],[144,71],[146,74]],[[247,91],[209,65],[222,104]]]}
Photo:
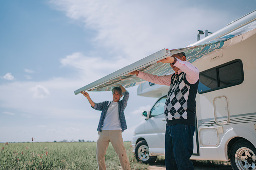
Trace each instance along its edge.
{"label": "campervan's whole rear wheel with black tire, at bottom right corner", "polygon": [[230,161],[233,169],[256,169],[256,148],[246,140],[235,142]]}

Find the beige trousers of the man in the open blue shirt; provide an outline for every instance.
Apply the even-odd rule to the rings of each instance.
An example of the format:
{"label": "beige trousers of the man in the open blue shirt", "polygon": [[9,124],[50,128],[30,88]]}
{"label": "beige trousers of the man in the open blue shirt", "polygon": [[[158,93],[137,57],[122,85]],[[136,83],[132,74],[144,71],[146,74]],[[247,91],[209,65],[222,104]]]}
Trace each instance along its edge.
{"label": "beige trousers of the man in the open blue shirt", "polygon": [[99,132],[96,148],[98,168],[100,170],[106,169],[105,154],[107,152],[109,142],[112,143],[112,146],[119,157],[122,168],[124,170],[130,170],[130,163],[123,144],[121,130],[102,130]]}

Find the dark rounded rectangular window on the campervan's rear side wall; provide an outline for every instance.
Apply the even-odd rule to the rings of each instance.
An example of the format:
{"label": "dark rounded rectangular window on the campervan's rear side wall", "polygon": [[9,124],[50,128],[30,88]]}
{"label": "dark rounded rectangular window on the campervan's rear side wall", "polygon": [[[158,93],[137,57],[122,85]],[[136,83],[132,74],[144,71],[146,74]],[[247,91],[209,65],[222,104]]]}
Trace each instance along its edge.
{"label": "dark rounded rectangular window on the campervan's rear side wall", "polygon": [[240,59],[222,64],[199,74],[198,93],[206,93],[243,82],[243,66]]}

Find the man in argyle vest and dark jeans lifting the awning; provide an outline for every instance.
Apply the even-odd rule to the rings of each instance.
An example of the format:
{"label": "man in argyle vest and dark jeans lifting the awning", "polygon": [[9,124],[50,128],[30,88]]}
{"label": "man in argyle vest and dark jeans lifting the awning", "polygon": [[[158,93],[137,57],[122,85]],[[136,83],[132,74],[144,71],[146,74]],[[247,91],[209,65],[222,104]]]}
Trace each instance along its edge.
{"label": "man in argyle vest and dark jeans lifting the awning", "polygon": [[174,74],[157,76],[133,71],[148,82],[170,86],[164,113],[166,117],[165,165],[166,169],[194,169],[189,160],[193,154],[195,131],[196,94],[199,83],[199,70],[186,61],[185,53],[174,54],[158,61],[170,63]]}

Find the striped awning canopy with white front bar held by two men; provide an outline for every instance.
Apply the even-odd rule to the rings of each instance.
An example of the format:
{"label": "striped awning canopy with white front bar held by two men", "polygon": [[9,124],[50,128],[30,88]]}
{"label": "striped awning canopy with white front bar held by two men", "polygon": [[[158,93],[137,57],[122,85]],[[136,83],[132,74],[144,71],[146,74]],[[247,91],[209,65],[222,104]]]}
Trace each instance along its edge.
{"label": "striped awning canopy with white front bar held by two men", "polygon": [[[254,11],[254,16],[255,16]],[[200,41],[200,44],[184,47],[180,49],[170,50],[171,54],[177,54],[185,52],[186,60],[193,63],[199,59],[203,59],[213,53],[216,53],[224,48],[233,46],[246,38],[256,34],[256,17],[247,22],[246,24],[240,25],[234,31],[225,34],[222,37],[213,39],[208,42]],[[213,34],[211,36],[214,36]],[[203,40],[203,39],[202,39]],[[129,72],[140,70],[146,73],[154,75],[168,75],[174,73],[170,64],[168,63],[156,63],[157,61],[166,58],[168,49],[162,49],[148,57],[145,57],[129,66],[126,66],[120,70],[117,70],[93,83],[90,83],[76,91],[75,94],[80,91],[110,91],[115,86],[122,85],[124,88],[132,87],[144,82],[143,79],[137,78],[135,75],[128,75]]]}

